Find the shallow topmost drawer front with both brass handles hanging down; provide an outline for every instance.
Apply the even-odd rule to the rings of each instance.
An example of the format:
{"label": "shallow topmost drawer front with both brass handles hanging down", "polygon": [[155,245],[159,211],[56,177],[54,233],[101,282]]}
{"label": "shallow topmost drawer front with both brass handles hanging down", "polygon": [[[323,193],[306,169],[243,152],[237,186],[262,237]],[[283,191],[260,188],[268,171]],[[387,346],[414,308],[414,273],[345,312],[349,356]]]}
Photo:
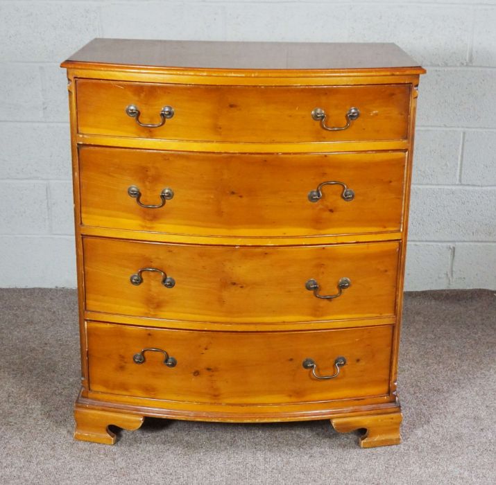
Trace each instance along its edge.
{"label": "shallow topmost drawer front with both brass handles hanging down", "polygon": [[[408,136],[410,90],[410,85],[257,87],[78,79],[78,132],[269,143],[400,140]],[[138,116],[126,113],[130,105]],[[173,108],[170,118],[170,110],[161,115],[166,106]],[[311,115],[322,108],[326,125],[343,127],[352,107],[359,117],[345,130],[325,130]]]}

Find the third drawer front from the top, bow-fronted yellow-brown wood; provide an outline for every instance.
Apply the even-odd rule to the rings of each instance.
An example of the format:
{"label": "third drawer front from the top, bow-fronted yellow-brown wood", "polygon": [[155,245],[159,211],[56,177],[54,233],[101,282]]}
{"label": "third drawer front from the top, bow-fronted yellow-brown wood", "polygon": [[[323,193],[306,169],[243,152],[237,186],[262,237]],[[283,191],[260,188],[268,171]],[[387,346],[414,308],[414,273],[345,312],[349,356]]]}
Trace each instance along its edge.
{"label": "third drawer front from the top, bow-fronted yellow-brown wood", "polygon": [[[397,242],[223,247],[83,238],[86,309],[241,323],[394,315],[399,247]],[[338,293],[334,299],[316,296]]]}

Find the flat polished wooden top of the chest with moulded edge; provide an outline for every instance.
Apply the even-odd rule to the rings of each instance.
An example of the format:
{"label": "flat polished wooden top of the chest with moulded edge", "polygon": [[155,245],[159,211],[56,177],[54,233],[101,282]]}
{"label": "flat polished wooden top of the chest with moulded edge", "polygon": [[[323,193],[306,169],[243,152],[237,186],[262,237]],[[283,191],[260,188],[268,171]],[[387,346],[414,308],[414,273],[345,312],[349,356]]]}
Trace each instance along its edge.
{"label": "flat polished wooden top of the chest with moulded edge", "polygon": [[93,39],[62,67],[422,74],[395,44]]}

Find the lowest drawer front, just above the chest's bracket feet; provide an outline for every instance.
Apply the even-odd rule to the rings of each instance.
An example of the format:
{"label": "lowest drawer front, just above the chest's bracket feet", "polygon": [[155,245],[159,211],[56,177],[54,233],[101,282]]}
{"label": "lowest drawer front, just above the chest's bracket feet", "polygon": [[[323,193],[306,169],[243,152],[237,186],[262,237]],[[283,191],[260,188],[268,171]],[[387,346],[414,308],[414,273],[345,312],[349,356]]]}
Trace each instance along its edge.
{"label": "lowest drawer front, just above the chest's bracket feet", "polygon": [[[389,391],[392,326],[207,332],[87,322],[89,388],[196,403],[301,403]],[[155,351],[144,349],[157,349]],[[337,365],[336,358],[345,358]],[[317,376],[303,367],[311,359]],[[341,361],[343,362],[343,361]]]}

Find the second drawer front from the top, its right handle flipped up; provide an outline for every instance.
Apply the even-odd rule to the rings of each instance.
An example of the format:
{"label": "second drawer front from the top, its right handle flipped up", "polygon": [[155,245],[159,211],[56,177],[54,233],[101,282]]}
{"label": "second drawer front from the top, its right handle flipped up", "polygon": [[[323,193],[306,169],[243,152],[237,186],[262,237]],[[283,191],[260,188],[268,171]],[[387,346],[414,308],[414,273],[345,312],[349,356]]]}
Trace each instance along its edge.
{"label": "second drawer front from the top, its right handle flipped up", "polygon": [[[79,161],[87,226],[207,236],[402,227],[405,152],[227,155],[85,146]],[[338,184],[321,186],[327,182]]]}

